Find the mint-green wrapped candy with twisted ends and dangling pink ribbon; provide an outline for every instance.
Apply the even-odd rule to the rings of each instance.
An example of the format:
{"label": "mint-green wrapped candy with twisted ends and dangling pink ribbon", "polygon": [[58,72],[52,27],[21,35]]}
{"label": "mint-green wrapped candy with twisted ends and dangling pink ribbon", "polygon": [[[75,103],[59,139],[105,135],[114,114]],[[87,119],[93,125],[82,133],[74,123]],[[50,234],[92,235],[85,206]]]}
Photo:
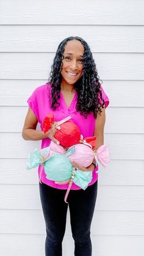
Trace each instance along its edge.
{"label": "mint-green wrapped candy with twisted ends and dangling pink ribbon", "polygon": [[65,155],[54,153],[49,157],[49,147],[30,153],[27,161],[27,170],[37,167],[41,164],[44,167],[46,178],[54,181],[65,181],[70,179],[67,193],[65,194],[65,202],[67,202],[68,193],[71,189],[71,185],[74,182],[82,189],[86,189],[88,183],[92,181],[92,172],[82,172],[76,169],[70,163]]}

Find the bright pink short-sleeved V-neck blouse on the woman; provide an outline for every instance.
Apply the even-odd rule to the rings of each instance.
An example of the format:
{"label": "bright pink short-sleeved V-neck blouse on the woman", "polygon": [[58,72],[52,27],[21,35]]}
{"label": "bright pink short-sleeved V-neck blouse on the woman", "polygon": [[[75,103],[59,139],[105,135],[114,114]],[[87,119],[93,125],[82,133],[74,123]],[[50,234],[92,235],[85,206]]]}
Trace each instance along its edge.
{"label": "bright pink short-sleeved V-neck blouse on the woman", "polygon": [[[103,90],[103,87],[101,87],[102,95],[105,102],[105,108],[109,104],[109,98],[107,97],[106,93]],[[93,113],[87,115],[87,118],[85,118],[83,115],[80,114],[80,112],[76,111],[76,103],[77,103],[77,92],[74,92],[73,100],[71,101],[70,107],[67,107],[67,104],[65,103],[65,100],[63,99],[62,92],[60,92],[60,106],[54,110],[50,106],[49,99],[51,98],[51,86],[49,84],[44,84],[40,87],[37,87],[34,92],[32,93],[31,97],[27,100],[27,103],[29,104],[29,107],[34,112],[35,116],[37,117],[38,122],[43,122],[43,119],[48,115],[49,113],[54,114],[54,120],[60,121],[64,119],[65,117],[68,117],[68,115],[71,115],[71,122],[74,122],[81,131],[81,134],[83,137],[90,137],[93,136],[95,131],[95,117],[93,116]],[[41,148],[48,147],[50,144],[50,139],[42,139],[41,141]],[[43,167],[42,167],[43,168]],[[88,184],[88,186],[95,183],[95,181],[98,179],[98,174],[96,173],[97,167],[93,170],[93,178],[92,181]],[[38,167],[38,176],[40,176],[40,166]],[[49,185],[53,188],[57,189],[68,189],[68,184],[66,185],[59,185],[55,184],[55,181],[48,180],[46,178],[46,174],[44,169],[41,173],[41,181],[42,183],[45,183],[46,185]],[[71,189],[81,189],[79,186],[73,185],[71,186]]]}

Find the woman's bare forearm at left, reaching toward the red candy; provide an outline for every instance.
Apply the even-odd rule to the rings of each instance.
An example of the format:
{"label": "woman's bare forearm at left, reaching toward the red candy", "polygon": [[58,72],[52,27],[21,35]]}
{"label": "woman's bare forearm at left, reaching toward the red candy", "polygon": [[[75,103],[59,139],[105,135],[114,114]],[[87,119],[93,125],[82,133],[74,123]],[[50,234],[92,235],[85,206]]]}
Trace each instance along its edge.
{"label": "woman's bare forearm at left, reaching toward the red candy", "polygon": [[25,141],[40,141],[48,136],[43,131],[27,128],[23,130],[22,137]]}

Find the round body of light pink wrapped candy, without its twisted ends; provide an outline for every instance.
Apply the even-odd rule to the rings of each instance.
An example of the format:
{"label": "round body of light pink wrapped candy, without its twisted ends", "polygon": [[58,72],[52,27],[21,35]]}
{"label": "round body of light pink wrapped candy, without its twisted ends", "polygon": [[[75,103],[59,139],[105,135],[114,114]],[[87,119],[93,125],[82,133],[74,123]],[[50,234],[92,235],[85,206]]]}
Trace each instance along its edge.
{"label": "round body of light pink wrapped candy, without its twisted ends", "polygon": [[92,164],[94,153],[92,148],[85,144],[76,144],[68,148],[66,155],[77,164],[88,167]]}

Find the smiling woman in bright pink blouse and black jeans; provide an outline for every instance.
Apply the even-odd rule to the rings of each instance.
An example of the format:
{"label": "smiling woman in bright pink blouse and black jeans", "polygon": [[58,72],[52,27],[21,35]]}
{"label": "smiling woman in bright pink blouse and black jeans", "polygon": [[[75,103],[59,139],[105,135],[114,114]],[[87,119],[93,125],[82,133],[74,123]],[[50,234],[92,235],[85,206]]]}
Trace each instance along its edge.
{"label": "smiling woman in bright pink blouse and black jeans", "polygon": [[[72,122],[76,123],[84,137],[96,136],[95,150],[104,144],[105,108],[109,99],[99,82],[90,48],[82,38],[68,37],[59,44],[49,82],[35,89],[27,102],[29,109],[23,127],[25,140],[42,140],[41,148],[48,147],[51,140],[59,144],[51,132],[45,134],[36,130],[37,123],[41,124],[48,113],[53,113],[56,121],[71,115]],[[73,183],[68,195],[74,255],[90,256],[90,226],[98,186],[95,159],[87,168],[76,163],[73,166],[93,172],[92,181],[85,191]],[[62,255],[68,208],[63,199],[68,182],[48,180],[44,170],[41,174],[39,188],[46,223],[46,256]]]}

